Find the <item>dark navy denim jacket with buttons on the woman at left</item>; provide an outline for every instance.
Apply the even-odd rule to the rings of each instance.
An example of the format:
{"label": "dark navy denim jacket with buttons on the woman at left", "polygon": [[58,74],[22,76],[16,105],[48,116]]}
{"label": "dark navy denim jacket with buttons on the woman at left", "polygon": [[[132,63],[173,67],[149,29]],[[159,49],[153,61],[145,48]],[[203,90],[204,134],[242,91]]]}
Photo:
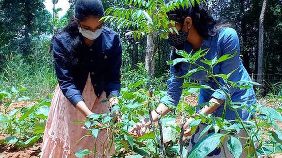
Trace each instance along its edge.
{"label": "dark navy denim jacket with buttons on the woman at left", "polygon": [[78,31],[61,32],[52,42],[56,75],[66,98],[74,106],[83,101],[82,92],[89,74],[98,97],[103,91],[107,97],[119,95],[122,63],[119,35],[104,27],[90,47],[82,42],[75,45],[75,41],[82,41]]}

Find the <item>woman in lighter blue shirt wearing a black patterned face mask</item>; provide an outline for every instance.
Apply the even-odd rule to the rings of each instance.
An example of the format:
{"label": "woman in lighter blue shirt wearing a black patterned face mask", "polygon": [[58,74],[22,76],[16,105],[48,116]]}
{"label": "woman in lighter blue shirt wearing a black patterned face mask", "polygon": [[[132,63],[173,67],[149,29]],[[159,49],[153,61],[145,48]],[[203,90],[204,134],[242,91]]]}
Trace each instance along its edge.
{"label": "woman in lighter blue shirt wearing a black patterned face mask", "polygon": [[[220,58],[222,55],[234,54],[237,52],[235,57],[217,64],[217,66],[213,68],[213,72],[215,74],[227,75],[236,69],[235,72],[230,76],[229,80],[232,80],[233,82],[243,80],[251,81],[250,76],[248,75],[248,72],[244,68],[239,57],[240,46],[236,31],[232,28],[217,24],[213,17],[211,17],[210,13],[208,13],[204,2],[201,2],[200,5],[190,5],[189,8],[182,8],[180,6],[179,9],[169,12],[168,17],[170,20],[177,22],[175,25],[179,32],[178,34],[173,33],[169,36],[169,42],[172,46],[174,46],[176,49],[185,50],[188,53],[195,53],[199,49],[210,48],[208,54],[204,57],[208,60],[211,60],[214,57]],[[175,58],[181,57],[176,53],[172,53],[171,60]],[[200,60],[197,60],[197,64],[208,68],[207,65],[201,63]],[[167,81],[167,94],[160,99],[159,106],[152,111],[152,117],[154,121],[160,118],[161,115],[165,115],[170,111],[169,105],[177,106],[182,94],[181,86],[184,82],[183,78],[178,78],[177,76],[183,76],[187,74],[189,67],[190,70],[195,68],[186,62],[179,63],[175,66],[170,66],[171,77]],[[199,104],[210,101],[212,105],[198,109],[197,114],[213,113],[214,116],[220,117],[223,111],[222,103],[226,99],[222,89],[217,86],[212,79],[206,80],[206,72],[204,71],[199,71],[190,76],[190,78],[198,80],[201,82],[201,84],[209,85],[215,89],[215,91],[207,89],[200,90]],[[225,87],[223,80],[220,78],[218,79],[220,84]],[[255,93],[252,87],[250,89],[225,88],[225,90],[231,95],[233,102],[242,102],[248,106],[255,102]],[[247,112],[247,110],[239,109],[238,113],[243,120],[246,120],[250,117],[250,114]],[[225,119],[235,118],[235,113],[231,111],[229,107],[227,107]],[[192,120],[193,119],[189,118],[184,124],[185,136],[190,135],[190,129],[188,126]],[[151,121],[149,121],[148,118],[144,118],[142,121],[140,121],[140,123],[135,124],[133,128],[129,130],[129,132],[135,134],[136,136],[142,136],[150,124]],[[200,125],[195,134],[191,137],[189,150],[191,150],[192,146],[197,143],[198,135],[201,133],[201,130],[204,127],[205,125]],[[222,153],[220,151],[221,148],[218,148],[208,156],[221,157],[220,154]],[[229,154],[230,157],[232,157],[231,153]]]}

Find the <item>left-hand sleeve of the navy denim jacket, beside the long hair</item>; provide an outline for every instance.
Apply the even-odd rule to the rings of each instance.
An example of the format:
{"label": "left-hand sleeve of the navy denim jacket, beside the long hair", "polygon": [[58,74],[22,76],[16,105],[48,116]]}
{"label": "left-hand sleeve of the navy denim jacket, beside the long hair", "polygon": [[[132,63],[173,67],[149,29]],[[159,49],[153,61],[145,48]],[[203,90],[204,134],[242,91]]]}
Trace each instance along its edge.
{"label": "left-hand sleeve of the navy denim jacket, beside the long hair", "polygon": [[67,60],[65,59],[67,49],[60,40],[53,40],[53,56],[55,60],[55,70],[58,83],[65,97],[76,106],[79,101],[84,101],[80,90],[74,84],[73,72]]}

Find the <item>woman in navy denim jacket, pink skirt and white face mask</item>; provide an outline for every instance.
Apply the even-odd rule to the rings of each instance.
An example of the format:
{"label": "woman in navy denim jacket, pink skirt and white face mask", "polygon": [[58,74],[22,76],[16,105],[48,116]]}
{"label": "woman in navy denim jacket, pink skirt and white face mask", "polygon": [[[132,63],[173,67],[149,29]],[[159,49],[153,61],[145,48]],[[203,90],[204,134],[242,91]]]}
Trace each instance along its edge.
{"label": "woman in navy denim jacket, pink skirt and white face mask", "polygon": [[115,151],[107,129],[100,130],[96,140],[85,137],[79,141],[87,130],[81,128],[83,123],[74,123],[93,113],[108,113],[120,92],[120,38],[103,26],[103,15],[100,0],[78,0],[75,17],[52,39],[58,86],[46,123],[41,157],[74,157],[81,149],[94,148],[95,157],[110,157]]}

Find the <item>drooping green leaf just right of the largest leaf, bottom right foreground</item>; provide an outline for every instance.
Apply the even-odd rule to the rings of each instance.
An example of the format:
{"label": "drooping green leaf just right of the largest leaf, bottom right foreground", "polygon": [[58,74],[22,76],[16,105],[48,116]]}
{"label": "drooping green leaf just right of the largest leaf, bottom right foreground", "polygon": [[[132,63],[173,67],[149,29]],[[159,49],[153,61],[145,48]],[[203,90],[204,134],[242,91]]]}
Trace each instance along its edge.
{"label": "drooping green leaf just right of the largest leaf, bottom right foreground", "polygon": [[234,136],[230,136],[230,139],[227,142],[227,146],[228,146],[229,151],[232,153],[232,155],[235,158],[240,157],[240,155],[243,151],[243,148],[242,148],[241,142],[238,138],[236,138]]}

